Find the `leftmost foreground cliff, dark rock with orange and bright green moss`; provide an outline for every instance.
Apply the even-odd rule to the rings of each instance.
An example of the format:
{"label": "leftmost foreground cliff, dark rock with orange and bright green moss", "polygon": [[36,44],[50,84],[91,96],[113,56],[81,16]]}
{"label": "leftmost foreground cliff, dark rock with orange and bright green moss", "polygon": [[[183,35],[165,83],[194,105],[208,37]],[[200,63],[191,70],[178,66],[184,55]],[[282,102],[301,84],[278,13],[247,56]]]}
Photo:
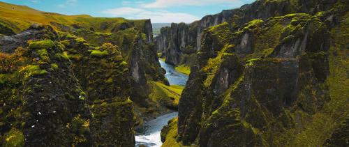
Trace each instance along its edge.
{"label": "leftmost foreground cliff, dark rock with orange and bright green moss", "polygon": [[[34,40],[29,41],[29,36]],[[86,95],[64,47],[50,38],[58,38],[50,26],[32,26],[17,36],[1,38],[28,41],[6,49],[10,54],[1,53],[2,146],[94,144],[94,119]]]}

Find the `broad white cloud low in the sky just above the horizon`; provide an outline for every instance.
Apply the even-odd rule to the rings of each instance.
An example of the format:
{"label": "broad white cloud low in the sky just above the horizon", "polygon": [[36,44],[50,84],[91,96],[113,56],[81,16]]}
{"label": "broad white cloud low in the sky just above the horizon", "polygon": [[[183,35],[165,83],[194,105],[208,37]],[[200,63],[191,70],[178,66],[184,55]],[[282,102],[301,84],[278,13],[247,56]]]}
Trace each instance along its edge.
{"label": "broad white cloud low in the sky just above the horizon", "polygon": [[144,10],[140,8],[114,8],[103,11],[112,17],[126,17],[131,20],[151,19],[151,22],[193,22],[200,18],[187,13],[170,13],[165,10]]}

